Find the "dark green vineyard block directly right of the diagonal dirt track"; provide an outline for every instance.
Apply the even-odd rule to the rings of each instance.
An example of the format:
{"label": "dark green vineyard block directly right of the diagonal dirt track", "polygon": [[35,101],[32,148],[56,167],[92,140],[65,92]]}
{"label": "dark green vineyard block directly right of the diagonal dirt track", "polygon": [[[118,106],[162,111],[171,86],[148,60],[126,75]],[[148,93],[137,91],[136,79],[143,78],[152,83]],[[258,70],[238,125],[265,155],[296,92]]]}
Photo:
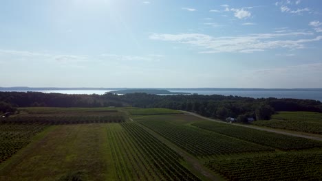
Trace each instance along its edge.
{"label": "dark green vineyard block directly right of the diagonal dirt track", "polygon": [[233,154],[243,152],[274,151],[262,145],[241,141],[239,139],[217,134],[188,125],[176,125],[168,121],[139,121],[175,143],[194,156]]}

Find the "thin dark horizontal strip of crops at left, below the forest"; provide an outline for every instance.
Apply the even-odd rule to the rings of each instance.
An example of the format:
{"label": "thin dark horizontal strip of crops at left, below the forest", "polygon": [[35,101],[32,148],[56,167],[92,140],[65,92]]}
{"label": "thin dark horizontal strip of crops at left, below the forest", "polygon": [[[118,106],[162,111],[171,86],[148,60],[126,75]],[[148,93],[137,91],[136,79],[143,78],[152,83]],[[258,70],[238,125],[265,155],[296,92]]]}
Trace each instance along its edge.
{"label": "thin dark horizontal strip of crops at left, below the forest", "polygon": [[125,117],[121,115],[109,116],[21,116],[8,117],[1,119],[1,123],[12,124],[43,124],[43,125],[59,125],[59,124],[80,124],[80,123],[120,123],[125,121]]}

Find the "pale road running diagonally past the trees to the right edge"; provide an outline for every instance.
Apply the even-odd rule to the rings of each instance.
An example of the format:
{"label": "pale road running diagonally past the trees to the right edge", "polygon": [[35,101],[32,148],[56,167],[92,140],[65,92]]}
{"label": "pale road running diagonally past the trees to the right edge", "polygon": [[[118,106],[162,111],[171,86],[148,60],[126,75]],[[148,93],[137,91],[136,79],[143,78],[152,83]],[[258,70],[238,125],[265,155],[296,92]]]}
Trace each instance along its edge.
{"label": "pale road running diagonally past the trees to the right edge", "polygon": [[[206,119],[208,121],[214,121],[214,122],[217,122],[217,123],[226,123],[224,121],[220,121],[220,120],[217,120],[217,119],[211,119],[211,118],[208,118],[208,117],[203,117],[203,116],[200,116],[199,114],[195,114],[193,112],[188,112],[188,111],[184,111],[184,110],[180,110],[180,111],[184,112],[184,114],[191,114],[191,115],[193,115],[195,117]],[[226,123],[226,124],[230,124],[230,123]],[[288,131],[283,131],[283,130],[275,130],[275,129],[272,129],[272,128],[259,128],[259,127],[254,126],[254,125],[241,125],[241,124],[233,124],[233,125],[246,127],[246,128],[252,128],[252,129],[255,129],[255,130],[261,130],[261,131],[266,131],[266,132],[274,132],[274,133],[277,133],[277,134],[285,134],[285,135],[288,135],[288,136],[296,136],[296,137],[301,137],[301,138],[308,138],[308,139],[312,139],[312,140],[322,141],[322,137],[305,135],[305,133],[303,133],[303,132],[298,132],[297,133],[297,132],[288,132]]]}

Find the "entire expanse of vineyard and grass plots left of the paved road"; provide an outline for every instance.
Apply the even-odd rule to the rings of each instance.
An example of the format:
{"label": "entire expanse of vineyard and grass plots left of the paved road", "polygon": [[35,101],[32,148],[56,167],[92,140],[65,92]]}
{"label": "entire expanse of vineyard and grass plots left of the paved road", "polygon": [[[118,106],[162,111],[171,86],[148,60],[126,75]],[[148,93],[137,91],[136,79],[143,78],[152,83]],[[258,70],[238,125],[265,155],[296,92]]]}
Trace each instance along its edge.
{"label": "entire expanse of vineyard and grass plots left of the paved road", "polygon": [[21,108],[0,122],[0,180],[319,180],[321,147],[178,110]]}

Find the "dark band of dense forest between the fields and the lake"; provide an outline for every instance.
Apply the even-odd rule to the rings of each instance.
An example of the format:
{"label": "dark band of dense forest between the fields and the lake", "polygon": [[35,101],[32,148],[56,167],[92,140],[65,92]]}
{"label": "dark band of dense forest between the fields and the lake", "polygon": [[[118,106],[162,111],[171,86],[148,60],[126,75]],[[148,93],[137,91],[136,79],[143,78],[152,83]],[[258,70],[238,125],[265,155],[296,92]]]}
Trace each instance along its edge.
{"label": "dark band of dense forest between the fields and the lake", "polygon": [[321,101],[309,99],[254,99],[224,95],[152,95],[132,93],[116,95],[66,95],[37,92],[0,92],[0,112],[11,112],[17,107],[107,107],[133,106],[139,108],[171,108],[202,114],[205,117],[239,121],[247,117],[270,119],[275,111],[322,112]]}

